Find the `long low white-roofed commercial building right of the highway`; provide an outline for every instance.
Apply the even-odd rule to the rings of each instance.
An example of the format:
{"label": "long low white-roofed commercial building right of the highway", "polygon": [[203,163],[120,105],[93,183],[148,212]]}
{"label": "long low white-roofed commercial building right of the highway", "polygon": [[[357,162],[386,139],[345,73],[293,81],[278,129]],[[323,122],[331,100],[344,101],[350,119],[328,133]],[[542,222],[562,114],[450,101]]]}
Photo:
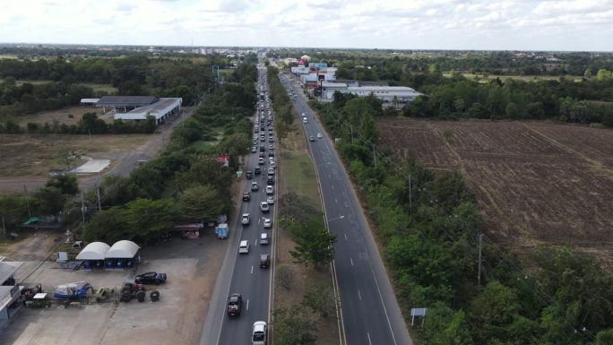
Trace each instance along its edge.
{"label": "long low white-roofed commercial building right of the highway", "polygon": [[345,82],[323,82],[322,99],[332,101],[334,92],[352,93],[358,97],[366,97],[371,93],[383,100],[384,107],[402,108],[422,94],[406,86],[358,85],[350,86]]}

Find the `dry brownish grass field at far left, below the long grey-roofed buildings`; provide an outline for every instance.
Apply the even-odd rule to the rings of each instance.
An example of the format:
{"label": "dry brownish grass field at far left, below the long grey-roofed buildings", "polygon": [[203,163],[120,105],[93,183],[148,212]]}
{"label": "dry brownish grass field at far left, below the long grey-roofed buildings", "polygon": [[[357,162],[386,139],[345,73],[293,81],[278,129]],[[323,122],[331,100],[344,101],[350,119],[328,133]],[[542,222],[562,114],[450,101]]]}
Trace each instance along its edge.
{"label": "dry brownish grass field at far left, below the long grey-roofed buildings", "polygon": [[136,151],[150,135],[63,135],[3,134],[0,135],[0,179],[17,177],[46,178],[51,168],[66,168],[58,159],[62,151],[102,159],[119,159]]}

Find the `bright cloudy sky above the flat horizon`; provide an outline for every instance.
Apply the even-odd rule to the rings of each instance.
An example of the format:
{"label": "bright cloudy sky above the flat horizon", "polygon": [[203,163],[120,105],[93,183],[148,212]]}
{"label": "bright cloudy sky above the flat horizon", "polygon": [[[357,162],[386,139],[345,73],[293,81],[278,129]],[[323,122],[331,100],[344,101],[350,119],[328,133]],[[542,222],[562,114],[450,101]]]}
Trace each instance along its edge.
{"label": "bright cloudy sky above the flat horizon", "polygon": [[0,0],[0,42],[613,51],[613,0]]}

